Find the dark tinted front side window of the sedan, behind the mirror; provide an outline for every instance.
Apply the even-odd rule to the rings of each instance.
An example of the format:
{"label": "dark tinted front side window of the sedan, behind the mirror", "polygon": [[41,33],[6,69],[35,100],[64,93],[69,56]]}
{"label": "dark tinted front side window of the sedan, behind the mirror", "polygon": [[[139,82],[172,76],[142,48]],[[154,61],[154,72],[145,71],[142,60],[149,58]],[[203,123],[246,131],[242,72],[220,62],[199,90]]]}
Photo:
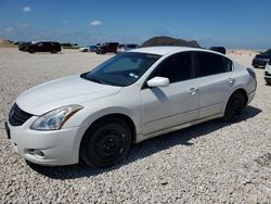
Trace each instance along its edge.
{"label": "dark tinted front side window of the sedan, behind the mirror", "polygon": [[193,77],[192,53],[183,52],[169,56],[158,65],[152,77],[166,77],[169,82],[188,80]]}

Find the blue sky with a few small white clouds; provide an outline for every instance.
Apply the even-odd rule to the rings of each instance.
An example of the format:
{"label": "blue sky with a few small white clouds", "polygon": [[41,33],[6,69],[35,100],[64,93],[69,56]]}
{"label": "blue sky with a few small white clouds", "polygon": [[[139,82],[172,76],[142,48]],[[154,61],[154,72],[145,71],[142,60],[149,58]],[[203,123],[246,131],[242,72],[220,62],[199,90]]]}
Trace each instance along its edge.
{"label": "blue sky with a few small white clouds", "polygon": [[154,36],[271,48],[271,0],[0,0],[0,38],[79,44]]}

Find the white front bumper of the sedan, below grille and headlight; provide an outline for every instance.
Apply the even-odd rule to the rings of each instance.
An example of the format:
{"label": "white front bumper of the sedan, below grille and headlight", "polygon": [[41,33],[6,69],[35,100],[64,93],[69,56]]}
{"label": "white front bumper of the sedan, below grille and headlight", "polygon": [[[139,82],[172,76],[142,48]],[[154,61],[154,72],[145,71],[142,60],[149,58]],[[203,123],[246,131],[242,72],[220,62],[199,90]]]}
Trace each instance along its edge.
{"label": "white front bumper of the sedan, below grille and headlight", "polygon": [[35,164],[57,166],[79,162],[79,148],[75,145],[78,127],[40,131],[29,129],[37,117],[29,118],[22,126],[7,123],[7,132],[14,151]]}

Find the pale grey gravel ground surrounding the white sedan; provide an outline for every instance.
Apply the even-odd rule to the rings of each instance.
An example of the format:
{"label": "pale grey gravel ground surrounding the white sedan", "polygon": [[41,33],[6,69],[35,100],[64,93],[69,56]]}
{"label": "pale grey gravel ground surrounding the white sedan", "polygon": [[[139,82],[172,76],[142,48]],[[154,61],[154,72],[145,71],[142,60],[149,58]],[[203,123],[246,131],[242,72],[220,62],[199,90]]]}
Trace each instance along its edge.
{"label": "pale grey gravel ground surrounding the white sedan", "polygon": [[[234,55],[250,66],[251,55]],[[271,203],[271,87],[258,90],[242,122],[220,119],[133,145],[109,169],[28,165],[12,150],[4,120],[16,95],[111,58],[0,49],[0,203]]]}

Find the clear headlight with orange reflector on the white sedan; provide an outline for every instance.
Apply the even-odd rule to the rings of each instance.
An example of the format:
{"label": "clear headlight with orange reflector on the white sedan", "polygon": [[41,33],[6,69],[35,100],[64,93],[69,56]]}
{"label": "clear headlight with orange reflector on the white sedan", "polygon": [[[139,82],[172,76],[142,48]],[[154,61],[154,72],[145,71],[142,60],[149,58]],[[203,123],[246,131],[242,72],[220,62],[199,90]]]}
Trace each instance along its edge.
{"label": "clear headlight with orange reflector on the white sedan", "polygon": [[30,129],[35,130],[57,130],[78,111],[82,109],[81,105],[68,105],[50,111],[41,115]]}

